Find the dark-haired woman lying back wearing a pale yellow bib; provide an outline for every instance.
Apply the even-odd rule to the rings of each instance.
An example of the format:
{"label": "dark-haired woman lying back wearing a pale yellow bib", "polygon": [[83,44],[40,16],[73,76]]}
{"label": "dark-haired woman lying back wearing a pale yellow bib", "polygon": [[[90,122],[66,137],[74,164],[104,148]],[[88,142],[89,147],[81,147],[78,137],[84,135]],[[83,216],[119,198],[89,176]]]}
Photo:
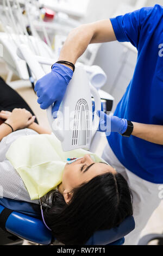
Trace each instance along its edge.
{"label": "dark-haired woman lying back wearing a pale yellow bib", "polygon": [[0,196],[41,204],[43,221],[65,245],[84,245],[95,231],[133,215],[121,174],[88,151],[62,152],[2,78],[0,91]]}

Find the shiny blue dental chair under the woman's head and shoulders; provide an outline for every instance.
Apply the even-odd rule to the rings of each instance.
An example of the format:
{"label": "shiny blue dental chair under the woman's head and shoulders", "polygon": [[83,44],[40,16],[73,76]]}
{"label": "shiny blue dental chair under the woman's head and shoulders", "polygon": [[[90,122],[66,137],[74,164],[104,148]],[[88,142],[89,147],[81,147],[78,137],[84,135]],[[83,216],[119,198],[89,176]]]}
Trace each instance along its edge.
{"label": "shiny blue dental chair under the woman's head and shoulders", "polygon": [[[55,240],[41,219],[40,206],[0,198],[0,227],[21,239],[41,245],[51,245]],[[118,227],[97,231],[86,245],[123,245],[124,236],[135,228],[134,218],[128,217]]]}

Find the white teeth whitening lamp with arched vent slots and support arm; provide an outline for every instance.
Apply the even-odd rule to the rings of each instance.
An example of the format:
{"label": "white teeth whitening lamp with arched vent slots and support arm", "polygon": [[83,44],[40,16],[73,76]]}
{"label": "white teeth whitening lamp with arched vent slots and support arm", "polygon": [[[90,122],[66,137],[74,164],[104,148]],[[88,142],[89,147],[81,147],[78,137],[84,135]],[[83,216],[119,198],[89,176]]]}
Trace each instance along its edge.
{"label": "white teeth whitening lamp with arched vent slots and support arm", "polygon": [[[17,54],[21,59],[26,60],[37,80],[45,75],[40,63],[46,64],[46,61],[43,59],[39,61],[39,58],[34,56],[26,45],[20,45]],[[53,64],[52,61],[51,64]],[[92,96],[95,101],[94,117]],[[90,149],[92,138],[99,125],[99,117],[96,114],[99,109],[101,109],[101,98],[98,91],[91,85],[83,65],[77,64],[61,102],[58,117],[56,119],[52,117],[52,106],[47,109],[49,124],[64,151],[78,148]]]}

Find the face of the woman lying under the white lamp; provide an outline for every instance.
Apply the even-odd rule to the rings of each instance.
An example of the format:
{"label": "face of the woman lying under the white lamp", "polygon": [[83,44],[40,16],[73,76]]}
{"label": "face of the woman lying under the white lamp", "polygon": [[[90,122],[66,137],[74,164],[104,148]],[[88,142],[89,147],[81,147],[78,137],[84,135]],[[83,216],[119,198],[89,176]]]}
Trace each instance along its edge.
{"label": "face of the woman lying under the white lamp", "polygon": [[108,172],[115,174],[116,170],[106,163],[96,163],[90,155],[85,155],[71,164],[66,164],[62,176],[62,187],[70,192],[73,188],[90,181],[95,176]]}

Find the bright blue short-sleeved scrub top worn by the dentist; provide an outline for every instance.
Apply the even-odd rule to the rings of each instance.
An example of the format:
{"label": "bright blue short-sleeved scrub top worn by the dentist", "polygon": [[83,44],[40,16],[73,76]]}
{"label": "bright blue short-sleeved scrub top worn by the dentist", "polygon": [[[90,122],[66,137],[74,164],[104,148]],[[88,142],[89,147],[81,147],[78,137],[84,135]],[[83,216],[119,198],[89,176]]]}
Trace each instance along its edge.
{"label": "bright blue short-sleeved scrub top worn by the dentist", "polygon": [[[163,7],[142,8],[110,20],[117,40],[130,41],[138,51],[133,79],[114,115],[163,125]],[[127,169],[147,181],[163,183],[163,145],[116,132],[107,139]]]}

